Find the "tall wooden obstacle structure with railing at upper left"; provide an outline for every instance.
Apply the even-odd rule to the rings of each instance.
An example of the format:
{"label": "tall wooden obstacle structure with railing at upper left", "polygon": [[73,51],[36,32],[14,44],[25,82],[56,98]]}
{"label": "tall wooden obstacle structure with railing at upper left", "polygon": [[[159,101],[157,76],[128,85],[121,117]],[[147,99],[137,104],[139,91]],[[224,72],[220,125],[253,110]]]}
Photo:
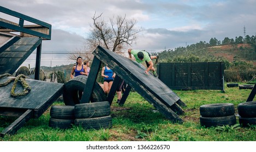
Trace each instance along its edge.
{"label": "tall wooden obstacle structure with railing at upper left", "polygon": [[[0,74],[13,74],[37,49],[34,77],[39,80],[41,43],[42,40],[51,40],[51,24],[1,6],[0,12],[19,20],[19,23],[15,23],[0,18]],[[25,25],[25,21],[34,24]],[[20,35],[14,32],[20,32]]]}

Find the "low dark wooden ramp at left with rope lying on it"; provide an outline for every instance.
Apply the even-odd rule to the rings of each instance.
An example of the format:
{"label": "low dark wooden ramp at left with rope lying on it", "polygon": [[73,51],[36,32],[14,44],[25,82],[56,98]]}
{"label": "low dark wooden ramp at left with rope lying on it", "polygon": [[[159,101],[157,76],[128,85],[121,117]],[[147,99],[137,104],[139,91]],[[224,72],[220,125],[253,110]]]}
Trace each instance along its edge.
{"label": "low dark wooden ramp at left with rope lying on it", "polygon": [[[0,84],[10,78],[14,77],[0,79]],[[33,79],[26,81],[32,90],[25,96],[17,98],[10,96],[13,83],[0,87],[0,116],[18,117],[1,132],[2,137],[6,134],[15,134],[29,119],[40,117],[63,92],[63,84]],[[22,90],[23,87],[18,83],[15,92]]]}

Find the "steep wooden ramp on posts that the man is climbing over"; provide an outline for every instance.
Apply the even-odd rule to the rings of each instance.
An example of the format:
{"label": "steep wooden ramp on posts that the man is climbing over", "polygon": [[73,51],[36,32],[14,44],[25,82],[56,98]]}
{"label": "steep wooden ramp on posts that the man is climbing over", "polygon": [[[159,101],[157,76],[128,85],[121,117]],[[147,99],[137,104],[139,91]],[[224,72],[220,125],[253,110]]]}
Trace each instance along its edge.
{"label": "steep wooden ramp on posts that the man is climbing over", "polygon": [[[180,106],[186,106],[168,86],[166,86],[158,78],[152,74],[145,74],[145,67],[132,61],[124,56],[111,52],[108,49],[98,46],[93,52],[94,59],[92,62],[93,71],[90,72],[86,83],[87,92],[82,96],[82,103],[89,100],[91,96],[93,82],[96,81],[97,73],[99,72],[100,63],[103,62],[108,65],[121,79],[134,88],[142,97],[144,97],[150,104],[163,113],[163,115],[171,121],[182,123],[183,120],[178,116],[184,113]],[[88,83],[90,82],[90,83]],[[115,81],[113,85],[115,84]],[[112,88],[111,88],[112,90]],[[110,91],[111,92],[111,91]],[[115,91],[113,91],[113,94]],[[109,96],[113,96],[109,93]],[[109,100],[111,103],[112,101]]]}

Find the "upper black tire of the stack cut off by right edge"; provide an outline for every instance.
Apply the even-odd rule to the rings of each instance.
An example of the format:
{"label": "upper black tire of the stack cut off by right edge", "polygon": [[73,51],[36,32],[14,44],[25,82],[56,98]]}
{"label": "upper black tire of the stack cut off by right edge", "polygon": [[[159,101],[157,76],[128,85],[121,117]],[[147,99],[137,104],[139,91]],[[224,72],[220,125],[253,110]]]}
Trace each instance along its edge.
{"label": "upper black tire of the stack cut off by right edge", "polygon": [[238,114],[241,117],[253,118],[256,117],[256,101],[240,103],[237,105]]}

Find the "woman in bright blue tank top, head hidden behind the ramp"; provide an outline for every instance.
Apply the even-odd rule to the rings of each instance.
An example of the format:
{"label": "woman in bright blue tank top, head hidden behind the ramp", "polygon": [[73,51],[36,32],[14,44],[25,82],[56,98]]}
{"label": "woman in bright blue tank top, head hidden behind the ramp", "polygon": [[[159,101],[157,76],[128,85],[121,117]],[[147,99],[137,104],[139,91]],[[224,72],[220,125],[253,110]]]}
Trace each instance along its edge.
{"label": "woman in bright blue tank top, head hidden behind the ramp", "polygon": [[109,93],[114,78],[116,77],[116,73],[113,72],[108,66],[104,66],[102,68],[102,77],[104,77],[104,92]]}

